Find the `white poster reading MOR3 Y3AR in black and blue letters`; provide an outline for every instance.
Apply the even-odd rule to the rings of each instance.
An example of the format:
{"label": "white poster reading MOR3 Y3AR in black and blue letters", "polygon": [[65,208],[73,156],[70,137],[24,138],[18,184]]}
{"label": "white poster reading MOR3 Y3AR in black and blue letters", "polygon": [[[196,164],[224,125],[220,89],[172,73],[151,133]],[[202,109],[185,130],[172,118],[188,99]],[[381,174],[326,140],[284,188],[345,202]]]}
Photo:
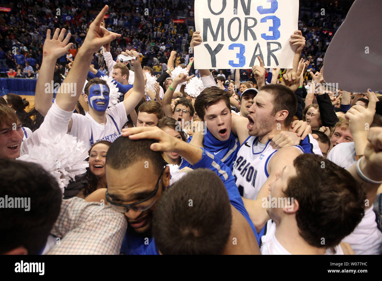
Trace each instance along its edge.
{"label": "white poster reading MOR3 Y3AR in black and blue letters", "polygon": [[195,68],[292,68],[298,0],[195,0]]}

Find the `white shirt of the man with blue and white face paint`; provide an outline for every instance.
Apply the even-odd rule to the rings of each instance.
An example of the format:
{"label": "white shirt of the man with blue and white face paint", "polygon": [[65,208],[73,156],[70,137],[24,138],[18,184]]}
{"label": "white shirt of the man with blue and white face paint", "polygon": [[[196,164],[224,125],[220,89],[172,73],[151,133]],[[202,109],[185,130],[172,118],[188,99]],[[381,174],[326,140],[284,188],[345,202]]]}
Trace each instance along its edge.
{"label": "white shirt of the man with blue and white face paint", "polygon": [[70,135],[84,141],[87,149],[100,140],[113,142],[121,135],[123,125],[127,122],[126,109],[123,102],[106,110],[106,124],[102,125],[95,121],[89,113],[86,115],[73,114],[73,125]]}

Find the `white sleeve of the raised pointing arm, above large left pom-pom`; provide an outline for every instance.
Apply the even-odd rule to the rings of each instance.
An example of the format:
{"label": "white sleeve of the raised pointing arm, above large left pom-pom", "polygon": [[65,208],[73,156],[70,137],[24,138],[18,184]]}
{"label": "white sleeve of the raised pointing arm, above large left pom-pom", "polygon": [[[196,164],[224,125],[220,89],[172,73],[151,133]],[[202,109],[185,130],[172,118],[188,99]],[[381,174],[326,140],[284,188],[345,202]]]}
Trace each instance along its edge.
{"label": "white sleeve of the raised pointing arm, above large left pom-pom", "polygon": [[43,138],[54,139],[59,134],[67,133],[73,111],[68,112],[60,109],[54,101],[40,128],[21,144],[20,154],[28,154],[28,146],[39,145]]}

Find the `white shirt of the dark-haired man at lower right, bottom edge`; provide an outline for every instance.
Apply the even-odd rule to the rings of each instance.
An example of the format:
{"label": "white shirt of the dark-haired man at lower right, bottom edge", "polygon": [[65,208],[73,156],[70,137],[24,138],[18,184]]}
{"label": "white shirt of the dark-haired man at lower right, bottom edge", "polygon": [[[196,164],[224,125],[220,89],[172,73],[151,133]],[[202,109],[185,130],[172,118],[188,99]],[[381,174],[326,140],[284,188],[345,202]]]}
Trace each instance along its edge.
{"label": "white shirt of the dark-haired man at lower right, bottom edge", "polygon": [[[271,219],[265,225],[264,235],[260,239],[260,251],[262,255],[291,255],[275,237],[276,223]],[[331,249],[326,249],[325,255],[343,255],[340,245],[334,247],[335,253]]]}

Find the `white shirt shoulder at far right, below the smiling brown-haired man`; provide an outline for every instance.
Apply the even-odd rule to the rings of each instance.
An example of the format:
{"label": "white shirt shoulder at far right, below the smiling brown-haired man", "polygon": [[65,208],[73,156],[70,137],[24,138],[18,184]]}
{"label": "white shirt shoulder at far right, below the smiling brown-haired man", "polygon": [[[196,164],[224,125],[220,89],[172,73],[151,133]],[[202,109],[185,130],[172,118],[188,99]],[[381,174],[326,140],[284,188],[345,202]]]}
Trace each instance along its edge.
{"label": "white shirt shoulder at far right, below the smiling brown-haired man", "polygon": [[328,160],[334,164],[349,169],[356,162],[356,147],[354,142],[339,143],[330,150]]}

